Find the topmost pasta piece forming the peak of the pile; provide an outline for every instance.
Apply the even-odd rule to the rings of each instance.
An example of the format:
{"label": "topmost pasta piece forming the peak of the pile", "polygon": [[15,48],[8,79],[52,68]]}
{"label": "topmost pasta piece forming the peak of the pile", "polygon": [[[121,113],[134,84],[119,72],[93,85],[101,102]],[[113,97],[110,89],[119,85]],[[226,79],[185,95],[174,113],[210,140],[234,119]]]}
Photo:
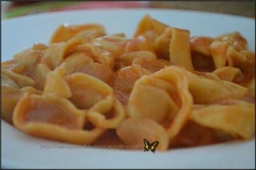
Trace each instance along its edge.
{"label": "topmost pasta piece forming the peak of the pile", "polygon": [[150,17],[150,15],[144,15],[137,26],[134,37],[143,35],[153,42],[159,35],[163,34],[166,27],[168,26]]}

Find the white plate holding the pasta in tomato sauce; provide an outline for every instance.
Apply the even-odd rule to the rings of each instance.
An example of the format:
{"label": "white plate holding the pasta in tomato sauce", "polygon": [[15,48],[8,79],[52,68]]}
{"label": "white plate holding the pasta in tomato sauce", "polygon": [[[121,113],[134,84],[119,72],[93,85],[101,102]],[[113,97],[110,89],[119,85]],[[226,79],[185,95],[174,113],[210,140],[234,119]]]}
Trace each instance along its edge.
{"label": "white plate holding the pasta in tomato sauce", "polygon": [[[132,37],[144,14],[191,35],[217,36],[239,31],[255,51],[255,20],[223,14],[181,10],[118,9],[56,12],[1,21],[2,60],[11,59],[35,42],[48,43],[61,24],[101,23],[109,34]],[[156,154],[142,151],[57,149],[65,144],[31,137],[1,120],[2,168],[255,168],[255,138]],[[41,149],[41,145],[53,149]],[[68,144],[65,144],[68,145]]]}

